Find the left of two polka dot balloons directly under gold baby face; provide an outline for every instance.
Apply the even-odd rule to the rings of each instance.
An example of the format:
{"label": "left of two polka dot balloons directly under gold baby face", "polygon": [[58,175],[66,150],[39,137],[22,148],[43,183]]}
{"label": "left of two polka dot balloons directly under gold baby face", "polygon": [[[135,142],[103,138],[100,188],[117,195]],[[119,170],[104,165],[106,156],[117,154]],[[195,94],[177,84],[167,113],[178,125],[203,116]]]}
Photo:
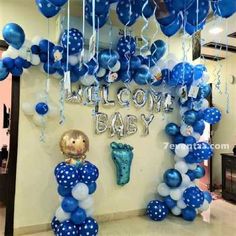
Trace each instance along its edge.
{"label": "left of two polka dot balloons directly under gold baby face", "polygon": [[64,187],[74,187],[79,182],[79,173],[74,166],[62,166],[56,174],[59,185]]}

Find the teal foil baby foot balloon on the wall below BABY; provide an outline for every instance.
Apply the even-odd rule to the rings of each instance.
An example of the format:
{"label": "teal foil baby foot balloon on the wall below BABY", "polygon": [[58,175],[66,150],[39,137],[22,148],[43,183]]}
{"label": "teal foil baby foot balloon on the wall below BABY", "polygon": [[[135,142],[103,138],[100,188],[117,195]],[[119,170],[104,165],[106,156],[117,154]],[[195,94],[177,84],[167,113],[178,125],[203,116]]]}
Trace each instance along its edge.
{"label": "teal foil baby foot balloon on the wall below BABY", "polygon": [[116,166],[117,184],[125,185],[130,180],[130,169],[133,160],[133,147],[127,144],[112,142],[112,159]]}

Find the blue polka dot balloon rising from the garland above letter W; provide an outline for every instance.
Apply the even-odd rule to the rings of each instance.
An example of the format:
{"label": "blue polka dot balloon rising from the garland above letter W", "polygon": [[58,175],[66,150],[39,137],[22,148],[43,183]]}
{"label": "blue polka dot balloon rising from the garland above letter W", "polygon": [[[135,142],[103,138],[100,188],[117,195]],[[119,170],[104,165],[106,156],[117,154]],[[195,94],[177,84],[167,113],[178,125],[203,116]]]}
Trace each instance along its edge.
{"label": "blue polka dot balloon rising from the garland above letter W", "polygon": [[[67,50],[67,30],[64,31],[61,37],[61,45]],[[78,29],[71,28],[69,30],[69,54],[74,55],[80,53],[84,46],[84,39],[82,33]]]}

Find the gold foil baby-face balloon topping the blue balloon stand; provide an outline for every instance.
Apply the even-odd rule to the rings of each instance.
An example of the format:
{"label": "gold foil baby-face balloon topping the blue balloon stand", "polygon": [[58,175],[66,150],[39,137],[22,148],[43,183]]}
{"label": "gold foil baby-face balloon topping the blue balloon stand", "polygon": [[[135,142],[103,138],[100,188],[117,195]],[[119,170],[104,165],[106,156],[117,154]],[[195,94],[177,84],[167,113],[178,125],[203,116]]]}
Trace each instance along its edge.
{"label": "gold foil baby-face balloon topping the blue balloon stand", "polygon": [[80,130],[66,131],[61,137],[60,148],[67,158],[83,160],[89,150],[88,136]]}

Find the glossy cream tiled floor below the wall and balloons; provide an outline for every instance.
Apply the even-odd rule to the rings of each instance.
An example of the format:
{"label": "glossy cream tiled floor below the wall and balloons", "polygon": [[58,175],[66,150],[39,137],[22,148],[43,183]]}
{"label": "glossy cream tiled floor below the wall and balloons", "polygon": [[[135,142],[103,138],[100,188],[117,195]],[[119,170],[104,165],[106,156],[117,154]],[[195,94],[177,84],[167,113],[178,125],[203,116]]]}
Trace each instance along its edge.
{"label": "glossy cream tiled floor below the wall and balloons", "polygon": [[[169,216],[163,222],[135,217],[100,224],[99,236],[233,236],[236,235],[236,205],[216,200],[211,209],[189,223]],[[52,236],[51,232],[31,236]]]}

